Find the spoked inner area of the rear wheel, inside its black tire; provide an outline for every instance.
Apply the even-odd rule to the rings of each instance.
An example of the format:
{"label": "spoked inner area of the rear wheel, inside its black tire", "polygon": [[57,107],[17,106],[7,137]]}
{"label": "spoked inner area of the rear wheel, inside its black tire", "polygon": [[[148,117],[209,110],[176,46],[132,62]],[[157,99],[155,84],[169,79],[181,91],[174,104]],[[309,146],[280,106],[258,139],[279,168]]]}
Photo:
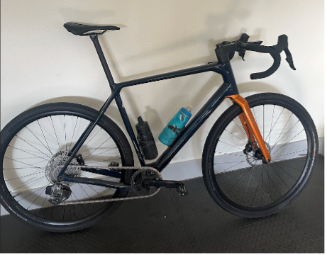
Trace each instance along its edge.
{"label": "spoked inner area of the rear wheel, inside its black tire", "polygon": [[[52,182],[45,174],[45,166],[55,154],[68,152],[84,132],[90,119],[85,115],[52,113],[23,125],[1,153],[1,179],[6,196],[16,208],[34,220],[49,225],[74,225],[104,212],[112,203],[57,205],[49,203],[45,187]],[[119,142],[109,135],[101,122],[94,128],[79,150],[85,165],[108,166],[110,162],[124,165]],[[99,178],[81,171],[80,176]],[[120,179],[101,176],[119,182]],[[121,191],[100,186],[74,183],[67,202],[103,199],[120,196]]]}

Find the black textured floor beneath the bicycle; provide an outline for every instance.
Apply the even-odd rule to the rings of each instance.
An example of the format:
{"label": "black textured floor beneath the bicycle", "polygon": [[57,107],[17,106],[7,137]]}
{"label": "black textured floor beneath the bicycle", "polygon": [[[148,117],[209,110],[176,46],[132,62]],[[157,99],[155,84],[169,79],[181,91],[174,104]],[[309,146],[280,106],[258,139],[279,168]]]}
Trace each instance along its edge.
{"label": "black textured floor beneath the bicycle", "polygon": [[1,253],[325,253],[325,158],[286,210],[260,220],[225,212],[202,179],[189,196],[162,190],[124,202],[99,225],[69,234],[42,232],[1,217]]}

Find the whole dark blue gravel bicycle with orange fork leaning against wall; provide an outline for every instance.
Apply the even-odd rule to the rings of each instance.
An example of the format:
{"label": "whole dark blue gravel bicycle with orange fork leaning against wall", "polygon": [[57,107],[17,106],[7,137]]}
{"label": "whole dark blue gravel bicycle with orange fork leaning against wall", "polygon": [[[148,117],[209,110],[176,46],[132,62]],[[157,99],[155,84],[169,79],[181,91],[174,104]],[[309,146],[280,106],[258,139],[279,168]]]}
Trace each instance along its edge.
{"label": "whole dark blue gravel bicycle with orange fork leaning against wall", "polygon": [[[108,217],[123,200],[149,198],[160,188],[187,195],[182,181],[162,180],[160,172],[226,98],[233,101],[209,132],[202,155],[204,183],[214,201],[240,217],[265,217],[282,210],[309,181],[318,155],[318,136],[309,113],[281,94],[243,98],[233,76],[235,52],[269,53],[274,74],[284,51],[295,70],[287,35],[275,46],[239,40],[216,45],[218,62],[116,84],[98,36],[116,26],[65,23],[74,35],[89,36],[109,81],[111,95],[100,111],[76,103],[48,103],[13,118],[1,130],[1,205],[18,220],[50,232],[84,229]],[[100,32],[99,32],[100,30]],[[135,137],[120,91],[163,79],[216,72],[223,84],[183,128],[155,163]],[[140,166],[121,128],[104,113],[115,100]],[[129,194],[129,195],[128,195]]]}

